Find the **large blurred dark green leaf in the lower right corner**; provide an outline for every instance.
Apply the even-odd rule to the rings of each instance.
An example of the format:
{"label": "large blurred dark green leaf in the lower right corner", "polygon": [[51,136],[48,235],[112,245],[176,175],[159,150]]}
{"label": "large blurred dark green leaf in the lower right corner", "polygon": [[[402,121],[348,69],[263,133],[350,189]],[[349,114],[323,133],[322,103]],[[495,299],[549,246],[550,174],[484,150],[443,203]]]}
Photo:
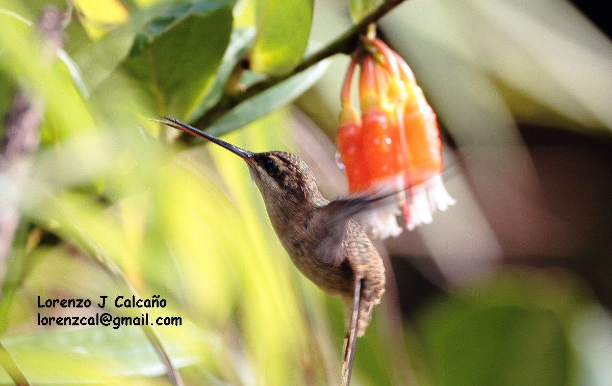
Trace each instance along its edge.
{"label": "large blurred dark green leaf in the lower right corner", "polygon": [[577,367],[569,339],[583,289],[531,276],[499,275],[425,313],[419,330],[432,385],[567,385]]}

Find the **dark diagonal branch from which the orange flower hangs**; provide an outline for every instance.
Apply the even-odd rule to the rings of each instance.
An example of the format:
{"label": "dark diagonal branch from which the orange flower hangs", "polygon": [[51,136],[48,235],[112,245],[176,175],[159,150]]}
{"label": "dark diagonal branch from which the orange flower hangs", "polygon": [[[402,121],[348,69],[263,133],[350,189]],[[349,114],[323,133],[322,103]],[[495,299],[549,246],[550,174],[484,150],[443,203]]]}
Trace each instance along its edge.
{"label": "dark diagonal branch from which the orange flower hangs", "polygon": [[240,103],[244,102],[248,98],[252,98],[255,95],[261,94],[262,92],[270,89],[271,87],[276,86],[278,83],[291,78],[291,76],[296,75],[299,72],[302,72],[312,65],[317,64],[323,59],[329,58],[330,56],[334,56],[335,54],[349,54],[354,51],[359,45],[359,35],[363,34],[368,26],[371,23],[376,23],[380,18],[386,15],[387,12],[394,9],[394,7],[398,6],[401,2],[405,0],[386,0],[381,4],[377,9],[368,14],[359,23],[355,24],[353,27],[346,30],[346,32],[340,35],[337,39],[330,42],[328,45],[321,48],[321,50],[316,53],[307,56],[297,65],[293,71],[287,73],[286,75],[280,76],[270,76],[265,80],[259,81],[258,83],[252,84],[247,89],[234,92],[232,94],[223,94],[220,98],[219,102],[209,109],[203,116],[195,122],[196,127],[208,127],[213,122],[217,121],[223,114],[227,113]]}

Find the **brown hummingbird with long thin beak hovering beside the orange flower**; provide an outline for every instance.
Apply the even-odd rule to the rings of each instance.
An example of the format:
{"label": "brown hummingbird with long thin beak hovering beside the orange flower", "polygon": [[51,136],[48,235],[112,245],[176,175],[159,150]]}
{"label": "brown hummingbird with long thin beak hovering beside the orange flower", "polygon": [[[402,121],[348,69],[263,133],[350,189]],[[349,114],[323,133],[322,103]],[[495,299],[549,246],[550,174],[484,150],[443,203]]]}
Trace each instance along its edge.
{"label": "brown hummingbird with long thin beak hovering beside the orange flower", "polygon": [[341,385],[348,386],[357,337],[364,335],[373,307],[385,291],[383,259],[351,218],[376,199],[353,196],[328,201],[319,192],[308,165],[296,155],[251,152],[177,119],[164,118],[154,121],[207,139],[245,161],[293,264],[327,294],[340,297],[347,326]]}

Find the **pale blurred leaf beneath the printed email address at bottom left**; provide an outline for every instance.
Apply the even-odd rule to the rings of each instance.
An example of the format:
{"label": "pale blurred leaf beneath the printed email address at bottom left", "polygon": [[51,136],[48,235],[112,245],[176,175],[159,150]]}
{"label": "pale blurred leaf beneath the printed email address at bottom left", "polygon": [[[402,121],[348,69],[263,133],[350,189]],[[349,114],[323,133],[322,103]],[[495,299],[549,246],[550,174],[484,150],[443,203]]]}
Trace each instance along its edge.
{"label": "pale blurred leaf beneath the printed email address at bottom left", "polygon": [[[194,342],[206,344],[206,338],[202,339],[201,331],[193,325],[182,325],[181,329],[190,331]],[[42,330],[3,336],[2,344],[35,385],[125,384],[125,377],[165,373],[157,353],[138,326]],[[170,341],[168,346],[177,368],[198,362],[198,357],[179,341]],[[4,371],[0,372],[0,383],[10,384]],[[140,384],[134,378],[127,383]]]}

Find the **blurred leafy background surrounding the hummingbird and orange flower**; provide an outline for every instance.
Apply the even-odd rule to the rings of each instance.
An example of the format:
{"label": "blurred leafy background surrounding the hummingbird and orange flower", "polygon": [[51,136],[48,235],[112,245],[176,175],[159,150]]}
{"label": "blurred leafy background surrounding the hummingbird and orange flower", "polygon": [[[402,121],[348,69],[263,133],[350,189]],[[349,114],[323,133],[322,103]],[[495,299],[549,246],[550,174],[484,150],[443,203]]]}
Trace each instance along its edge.
{"label": "blurred leafy background surrounding the hummingbird and orange flower", "polygon": [[[378,4],[0,0],[0,111],[25,95],[40,133],[0,156],[0,384],[14,366],[34,385],[170,384],[150,331],[37,324],[130,314],[95,303],[132,292],[182,317],[155,331],[186,385],[338,384],[340,301],[293,267],[244,163],[149,118],[294,152],[341,196],[347,56],[207,112]],[[612,44],[594,4],[406,0],[380,21],[438,114],[458,204],[377,243],[387,293],[354,385],[612,384]]]}

